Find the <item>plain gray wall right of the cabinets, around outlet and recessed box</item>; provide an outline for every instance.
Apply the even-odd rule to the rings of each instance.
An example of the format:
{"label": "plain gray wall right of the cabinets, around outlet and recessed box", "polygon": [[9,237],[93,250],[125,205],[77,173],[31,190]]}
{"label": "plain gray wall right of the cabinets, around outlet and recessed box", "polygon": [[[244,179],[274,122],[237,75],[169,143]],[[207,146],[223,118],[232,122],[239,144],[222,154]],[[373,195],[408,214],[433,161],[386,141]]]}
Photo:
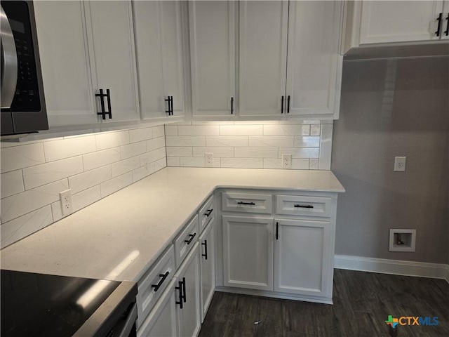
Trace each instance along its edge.
{"label": "plain gray wall right of the cabinets, around outlet and recessed box", "polygon": [[[335,253],[449,262],[448,130],[448,57],[344,62]],[[406,172],[393,171],[395,156]],[[389,252],[390,228],[415,228],[416,252]]]}

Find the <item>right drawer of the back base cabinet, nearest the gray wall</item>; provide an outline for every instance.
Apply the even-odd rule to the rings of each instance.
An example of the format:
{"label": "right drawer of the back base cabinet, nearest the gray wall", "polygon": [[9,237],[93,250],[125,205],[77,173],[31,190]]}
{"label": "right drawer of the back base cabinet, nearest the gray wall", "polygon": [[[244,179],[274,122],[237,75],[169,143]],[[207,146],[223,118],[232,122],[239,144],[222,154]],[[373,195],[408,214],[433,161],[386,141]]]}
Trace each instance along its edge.
{"label": "right drawer of the back base cabinet, nearest the gray wall", "polygon": [[330,217],[330,198],[304,195],[276,196],[276,213],[290,216]]}

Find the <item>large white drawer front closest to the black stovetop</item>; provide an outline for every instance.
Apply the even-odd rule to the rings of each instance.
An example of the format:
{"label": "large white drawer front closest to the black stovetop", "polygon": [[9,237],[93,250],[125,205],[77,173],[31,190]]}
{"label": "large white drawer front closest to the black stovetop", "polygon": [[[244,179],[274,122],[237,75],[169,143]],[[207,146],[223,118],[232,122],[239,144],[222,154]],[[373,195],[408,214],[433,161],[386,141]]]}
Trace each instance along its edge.
{"label": "large white drawer front closest to the black stovetop", "polygon": [[138,319],[137,327],[152,310],[156,301],[161,297],[170,279],[175,275],[175,250],[173,245],[163,254],[154,265],[138,282]]}

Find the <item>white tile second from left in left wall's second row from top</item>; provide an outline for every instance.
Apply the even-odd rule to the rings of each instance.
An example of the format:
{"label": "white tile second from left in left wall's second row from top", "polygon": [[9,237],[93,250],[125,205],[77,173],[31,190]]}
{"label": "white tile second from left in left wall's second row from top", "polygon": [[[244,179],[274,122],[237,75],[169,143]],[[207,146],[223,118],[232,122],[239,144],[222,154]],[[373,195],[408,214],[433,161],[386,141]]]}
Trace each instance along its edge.
{"label": "white tile second from left in left wall's second row from top", "polygon": [[82,157],[70,157],[23,169],[23,181],[25,189],[31,190],[81,172],[83,172]]}

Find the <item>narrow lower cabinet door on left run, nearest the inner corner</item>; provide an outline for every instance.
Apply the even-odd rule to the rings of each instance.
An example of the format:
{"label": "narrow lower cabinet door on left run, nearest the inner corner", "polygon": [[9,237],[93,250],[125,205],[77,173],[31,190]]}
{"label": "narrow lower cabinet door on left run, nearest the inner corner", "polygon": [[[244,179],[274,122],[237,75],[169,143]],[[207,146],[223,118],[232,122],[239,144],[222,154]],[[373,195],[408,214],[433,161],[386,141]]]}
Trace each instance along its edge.
{"label": "narrow lower cabinet door on left run, nearest the inner corner", "polygon": [[215,291],[215,218],[212,218],[199,237],[201,244],[201,322]]}

